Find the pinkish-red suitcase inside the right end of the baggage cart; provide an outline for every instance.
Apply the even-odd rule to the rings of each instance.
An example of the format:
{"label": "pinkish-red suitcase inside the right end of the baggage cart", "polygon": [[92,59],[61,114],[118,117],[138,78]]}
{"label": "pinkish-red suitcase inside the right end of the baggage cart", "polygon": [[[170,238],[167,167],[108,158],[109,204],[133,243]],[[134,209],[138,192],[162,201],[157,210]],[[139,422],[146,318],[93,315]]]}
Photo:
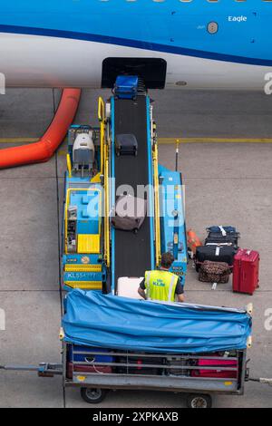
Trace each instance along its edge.
{"label": "pinkish-red suitcase inside the right end of the baggage cart", "polygon": [[[192,377],[209,377],[218,379],[236,379],[238,377],[238,362],[235,360],[199,360],[199,367],[213,367],[214,370],[192,370]],[[220,367],[235,368],[235,370],[220,370]]]}

